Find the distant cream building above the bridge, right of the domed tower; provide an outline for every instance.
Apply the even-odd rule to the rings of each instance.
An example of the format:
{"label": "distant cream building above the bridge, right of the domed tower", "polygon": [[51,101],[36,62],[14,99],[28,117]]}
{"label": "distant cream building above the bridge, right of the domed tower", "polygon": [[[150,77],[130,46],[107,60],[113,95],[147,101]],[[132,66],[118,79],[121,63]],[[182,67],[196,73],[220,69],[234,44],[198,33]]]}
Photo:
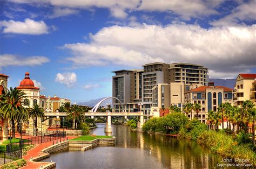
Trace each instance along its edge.
{"label": "distant cream building above the bridge, right of the domed tower", "polygon": [[53,97],[49,96],[46,98],[46,112],[55,112],[59,109],[60,106],[65,103],[71,103],[68,98],[60,98],[54,95]]}

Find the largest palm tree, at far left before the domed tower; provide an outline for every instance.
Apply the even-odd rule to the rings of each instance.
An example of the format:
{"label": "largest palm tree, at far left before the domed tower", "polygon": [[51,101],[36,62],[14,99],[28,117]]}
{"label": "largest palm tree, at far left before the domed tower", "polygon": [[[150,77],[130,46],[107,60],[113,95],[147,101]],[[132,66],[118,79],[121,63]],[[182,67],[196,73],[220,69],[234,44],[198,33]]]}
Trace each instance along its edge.
{"label": "largest palm tree, at far left before the domed tower", "polygon": [[22,101],[26,98],[25,93],[17,88],[12,89],[1,95],[3,117],[11,119],[12,137],[15,137],[15,120],[27,119],[28,110],[23,107]]}

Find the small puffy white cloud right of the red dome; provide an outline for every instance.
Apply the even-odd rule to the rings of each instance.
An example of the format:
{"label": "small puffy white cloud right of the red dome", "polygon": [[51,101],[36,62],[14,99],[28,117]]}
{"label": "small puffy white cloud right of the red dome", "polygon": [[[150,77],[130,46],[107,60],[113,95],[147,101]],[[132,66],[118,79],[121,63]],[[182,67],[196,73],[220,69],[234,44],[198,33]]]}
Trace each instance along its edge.
{"label": "small puffy white cloud right of the red dome", "polygon": [[57,73],[55,81],[63,83],[66,87],[71,88],[77,82],[77,75],[74,72]]}

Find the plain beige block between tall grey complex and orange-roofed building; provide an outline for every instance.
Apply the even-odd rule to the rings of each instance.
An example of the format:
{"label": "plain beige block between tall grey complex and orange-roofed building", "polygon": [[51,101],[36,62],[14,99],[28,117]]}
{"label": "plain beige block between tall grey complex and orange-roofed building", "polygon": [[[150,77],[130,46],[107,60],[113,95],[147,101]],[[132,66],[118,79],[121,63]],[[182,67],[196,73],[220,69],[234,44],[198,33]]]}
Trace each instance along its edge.
{"label": "plain beige block between tall grey complex and orange-roofed building", "polygon": [[171,105],[182,110],[184,104],[184,83],[159,83],[152,88],[153,101],[151,112],[160,115],[160,109],[169,109]]}

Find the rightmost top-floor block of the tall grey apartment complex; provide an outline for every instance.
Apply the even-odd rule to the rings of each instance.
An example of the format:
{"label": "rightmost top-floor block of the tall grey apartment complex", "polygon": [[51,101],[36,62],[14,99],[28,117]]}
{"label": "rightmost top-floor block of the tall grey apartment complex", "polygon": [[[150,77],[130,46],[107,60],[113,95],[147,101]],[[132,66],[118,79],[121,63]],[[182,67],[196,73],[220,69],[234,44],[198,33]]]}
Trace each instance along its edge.
{"label": "rightmost top-floor block of the tall grey apartment complex", "polygon": [[170,64],[168,69],[170,82],[182,82],[184,84],[198,83],[207,86],[208,68],[186,63]]}

